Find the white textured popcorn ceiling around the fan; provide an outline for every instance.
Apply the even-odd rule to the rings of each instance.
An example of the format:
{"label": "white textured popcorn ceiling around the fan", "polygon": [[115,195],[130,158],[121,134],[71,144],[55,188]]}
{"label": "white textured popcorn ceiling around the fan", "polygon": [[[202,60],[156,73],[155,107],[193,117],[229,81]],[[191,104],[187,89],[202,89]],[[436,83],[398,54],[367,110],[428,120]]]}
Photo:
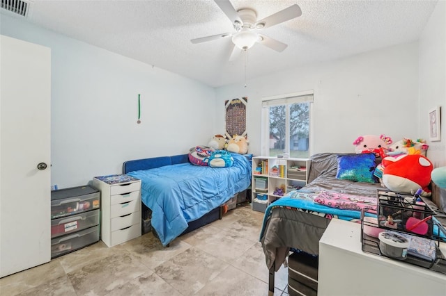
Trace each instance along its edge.
{"label": "white textured popcorn ceiling around the fan", "polygon": [[[281,53],[261,44],[249,49],[247,79],[272,72],[412,42],[436,1],[236,1],[262,19],[295,3],[302,15],[265,28],[289,46]],[[233,32],[212,0],[34,0],[26,20],[213,87],[243,81],[245,56],[229,62],[231,38],[192,44],[191,39]]]}

